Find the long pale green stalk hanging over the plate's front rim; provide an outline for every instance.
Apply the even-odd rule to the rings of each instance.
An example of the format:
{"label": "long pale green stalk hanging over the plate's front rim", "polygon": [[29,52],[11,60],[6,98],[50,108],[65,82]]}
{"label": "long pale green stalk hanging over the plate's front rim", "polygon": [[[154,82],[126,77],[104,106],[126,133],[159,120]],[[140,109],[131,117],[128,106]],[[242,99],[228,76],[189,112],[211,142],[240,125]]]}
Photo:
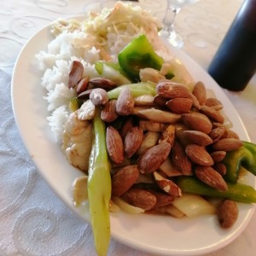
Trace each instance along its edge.
{"label": "long pale green stalk hanging over the plate's front rim", "polygon": [[106,129],[100,117],[99,108],[96,108],[93,125],[95,141],[90,154],[88,198],[96,252],[99,256],[104,256],[108,253],[110,241],[111,177],[106,146]]}

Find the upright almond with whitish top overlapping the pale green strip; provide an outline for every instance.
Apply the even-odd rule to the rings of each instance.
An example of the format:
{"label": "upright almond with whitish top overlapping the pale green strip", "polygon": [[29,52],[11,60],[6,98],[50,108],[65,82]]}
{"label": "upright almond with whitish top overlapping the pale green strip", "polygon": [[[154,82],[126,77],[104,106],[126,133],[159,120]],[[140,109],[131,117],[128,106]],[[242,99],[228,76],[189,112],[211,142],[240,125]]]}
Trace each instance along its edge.
{"label": "upright almond with whitish top overlapping the pale green strip", "polygon": [[133,112],[134,99],[131,95],[131,90],[124,88],[120,91],[118,100],[116,102],[116,112],[119,115],[129,115]]}

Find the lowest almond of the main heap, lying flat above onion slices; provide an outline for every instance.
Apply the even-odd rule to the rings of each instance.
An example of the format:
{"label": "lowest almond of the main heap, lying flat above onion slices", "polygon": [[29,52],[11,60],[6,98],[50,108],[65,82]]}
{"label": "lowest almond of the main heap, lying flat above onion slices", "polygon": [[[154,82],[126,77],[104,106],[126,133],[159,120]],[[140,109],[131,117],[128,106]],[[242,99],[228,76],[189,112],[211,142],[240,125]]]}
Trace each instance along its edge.
{"label": "lowest almond of the main heap, lying flat above onion slices", "polygon": [[122,197],[132,206],[143,208],[145,211],[152,209],[156,204],[156,197],[145,189],[130,189]]}

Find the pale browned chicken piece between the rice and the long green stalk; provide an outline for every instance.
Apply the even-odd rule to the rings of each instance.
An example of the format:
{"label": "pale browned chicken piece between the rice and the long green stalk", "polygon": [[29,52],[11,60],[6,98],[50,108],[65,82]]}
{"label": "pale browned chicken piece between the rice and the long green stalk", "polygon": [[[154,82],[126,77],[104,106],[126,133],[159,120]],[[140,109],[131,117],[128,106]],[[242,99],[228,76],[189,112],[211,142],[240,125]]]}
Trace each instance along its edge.
{"label": "pale browned chicken piece between the rice and the long green stalk", "polygon": [[87,172],[92,144],[92,124],[90,120],[79,119],[79,111],[71,113],[68,117],[62,143],[69,163]]}

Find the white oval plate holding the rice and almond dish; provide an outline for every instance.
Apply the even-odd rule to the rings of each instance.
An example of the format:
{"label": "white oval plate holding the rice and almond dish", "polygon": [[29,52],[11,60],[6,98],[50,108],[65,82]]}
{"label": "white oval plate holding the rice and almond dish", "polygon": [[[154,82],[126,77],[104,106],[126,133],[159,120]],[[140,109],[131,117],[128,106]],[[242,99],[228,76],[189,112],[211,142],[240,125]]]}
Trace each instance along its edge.
{"label": "white oval plate holding the rice and almond dish", "polygon": [[[43,96],[45,91],[40,85],[42,73],[34,57],[39,50],[46,49],[52,37],[49,26],[35,34],[21,50],[15,63],[12,79],[12,104],[15,120],[28,153],[50,187],[64,201],[89,221],[88,211],[74,209],[70,187],[75,177],[82,172],[67,163],[59,144],[49,130],[46,117],[47,103]],[[170,46],[171,47],[171,46]],[[177,57],[185,63],[195,80],[203,81],[207,88],[214,90],[218,99],[224,104],[224,111],[229,116],[241,139],[249,140],[236,109],[223,90],[213,79],[189,56],[182,51],[172,49]],[[255,178],[245,177],[246,183],[255,187]],[[148,253],[162,255],[200,255],[224,247],[239,236],[253,215],[253,205],[238,204],[239,217],[230,230],[218,226],[216,216],[176,219],[169,216],[150,214],[131,215],[125,212],[111,213],[111,234],[113,239],[130,247]]]}

